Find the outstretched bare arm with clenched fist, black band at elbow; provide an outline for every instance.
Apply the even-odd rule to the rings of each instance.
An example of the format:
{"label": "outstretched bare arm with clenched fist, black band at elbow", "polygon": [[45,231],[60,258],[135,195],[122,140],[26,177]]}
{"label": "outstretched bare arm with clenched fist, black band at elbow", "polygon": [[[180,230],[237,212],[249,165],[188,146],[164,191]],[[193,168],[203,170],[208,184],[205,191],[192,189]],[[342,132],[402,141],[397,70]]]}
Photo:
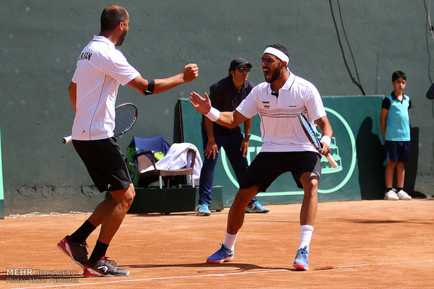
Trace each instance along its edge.
{"label": "outstretched bare arm with clenched fist, black band at elbow", "polygon": [[[187,64],[184,66],[183,71],[177,75],[167,77],[164,79],[154,80],[155,89],[153,94],[160,94],[164,91],[177,87],[180,84],[195,80],[199,75],[199,68],[196,64]],[[148,90],[148,80],[141,76],[134,78],[127,83],[133,89],[139,91],[141,94],[145,94],[145,90]]]}

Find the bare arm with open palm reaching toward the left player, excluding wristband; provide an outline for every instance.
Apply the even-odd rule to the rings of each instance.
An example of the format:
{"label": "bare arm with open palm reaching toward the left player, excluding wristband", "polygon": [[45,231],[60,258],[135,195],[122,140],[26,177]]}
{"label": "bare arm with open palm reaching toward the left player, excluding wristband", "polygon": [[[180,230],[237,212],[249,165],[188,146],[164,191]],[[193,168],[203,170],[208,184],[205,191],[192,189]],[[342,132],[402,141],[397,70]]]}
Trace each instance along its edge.
{"label": "bare arm with open palm reaching toward the left player, excluding wristband", "polygon": [[[206,93],[205,98],[202,98],[202,96],[193,91],[190,94],[190,103],[193,105],[193,108],[202,114],[208,114],[211,110],[211,101]],[[228,128],[235,128],[247,119],[248,118],[244,117],[243,114],[234,110],[232,112],[220,112],[220,117],[217,119],[216,123]]]}

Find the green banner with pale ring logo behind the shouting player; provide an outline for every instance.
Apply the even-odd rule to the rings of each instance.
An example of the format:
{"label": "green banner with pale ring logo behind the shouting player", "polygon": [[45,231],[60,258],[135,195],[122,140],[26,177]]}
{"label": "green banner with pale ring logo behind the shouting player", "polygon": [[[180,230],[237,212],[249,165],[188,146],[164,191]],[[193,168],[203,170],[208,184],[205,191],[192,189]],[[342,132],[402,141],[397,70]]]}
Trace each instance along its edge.
{"label": "green banner with pale ring logo behind the shouting player", "polygon": [[[323,103],[333,128],[331,155],[337,161],[332,168],[327,159],[321,159],[322,174],[318,200],[342,201],[382,198],[384,185],[384,157],[381,145],[379,113],[383,96],[325,96]],[[200,123],[202,116],[190,105],[189,99],[180,99],[183,141],[200,149],[203,145]],[[241,128],[243,126],[241,125]],[[317,128],[318,135],[321,133]],[[260,117],[252,119],[248,163],[260,152]],[[230,206],[237,193],[238,183],[225,151],[222,148],[214,174],[214,185],[223,186],[224,205]],[[302,202],[303,191],[297,188],[290,172],[258,193],[261,203],[284,204]]]}

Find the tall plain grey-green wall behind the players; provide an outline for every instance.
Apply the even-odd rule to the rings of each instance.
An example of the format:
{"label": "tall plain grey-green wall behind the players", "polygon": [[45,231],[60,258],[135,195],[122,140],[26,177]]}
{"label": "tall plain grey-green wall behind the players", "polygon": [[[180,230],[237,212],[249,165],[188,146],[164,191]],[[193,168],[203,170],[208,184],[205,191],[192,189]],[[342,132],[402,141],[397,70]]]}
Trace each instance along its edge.
{"label": "tall plain grey-green wall behind the players", "polygon": [[[16,0],[1,5],[0,124],[6,215],[89,212],[103,198],[92,187],[73,147],[60,140],[70,134],[73,121],[67,87],[76,59],[92,35],[98,34],[99,16],[111,3]],[[405,71],[405,93],[413,104],[411,125],[419,131],[418,167],[412,172],[415,189],[433,194],[434,107],[425,96],[434,77],[428,0],[118,3],[127,8],[131,20],[119,49],[144,77],[174,75],[190,62],[200,66],[197,80],[164,94],[144,97],[130,87],[120,88],[118,103],[128,101],[139,107],[138,123],[118,141],[123,149],[132,135],[162,134],[173,142],[179,97],[192,90],[208,91],[227,75],[230,60],[238,56],[253,64],[250,80],[262,82],[262,52],[268,44],[281,43],[290,52],[291,71],[314,82],[323,96],[362,94],[350,75],[367,95],[389,94],[393,71]],[[199,125],[194,129],[199,133]]]}

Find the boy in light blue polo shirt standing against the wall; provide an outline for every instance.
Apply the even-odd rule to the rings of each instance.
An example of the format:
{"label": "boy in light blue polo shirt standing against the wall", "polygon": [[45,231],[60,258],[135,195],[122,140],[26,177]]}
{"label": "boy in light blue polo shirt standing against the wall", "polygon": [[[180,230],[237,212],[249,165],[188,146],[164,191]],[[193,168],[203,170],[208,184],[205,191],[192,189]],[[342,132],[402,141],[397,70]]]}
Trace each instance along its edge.
{"label": "boy in light blue polo shirt standing against the wall", "polygon": [[[404,163],[410,161],[410,124],[408,110],[412,108],[409,96],[403,91],[407,77],[402,71],[392,74],[393,91],[381,103],[380,124],[387,151],[384,200],[411,200],[404,191]],[[393,173],[396,170],[396,190]]]}

